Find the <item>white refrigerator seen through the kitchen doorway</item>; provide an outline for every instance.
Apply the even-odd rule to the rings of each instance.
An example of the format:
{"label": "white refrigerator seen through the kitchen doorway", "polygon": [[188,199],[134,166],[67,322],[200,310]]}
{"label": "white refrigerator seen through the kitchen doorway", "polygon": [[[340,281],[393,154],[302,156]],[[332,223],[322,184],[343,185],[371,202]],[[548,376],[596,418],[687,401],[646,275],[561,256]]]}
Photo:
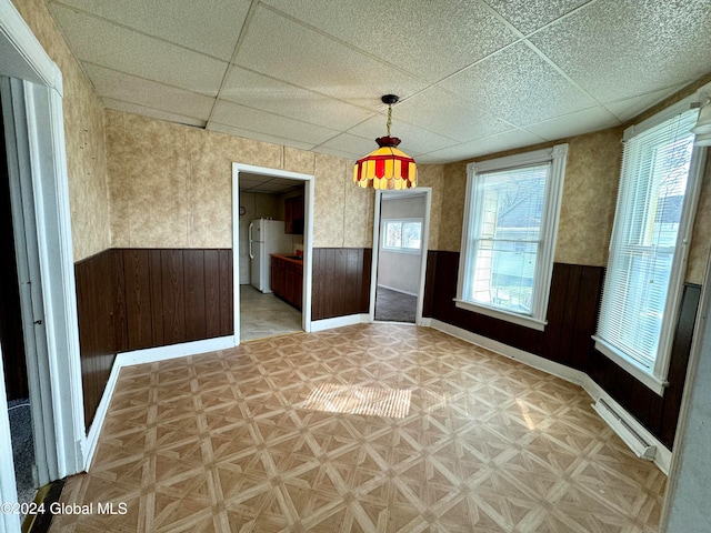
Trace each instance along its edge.
{"label": "white refrigerator seen through the kitchen doorway", "polygon": [[249,224],[251,282],[261,292],[271,292],[271,253],[292,253],[293,241],[284,233],[283,220],[258,219]]}

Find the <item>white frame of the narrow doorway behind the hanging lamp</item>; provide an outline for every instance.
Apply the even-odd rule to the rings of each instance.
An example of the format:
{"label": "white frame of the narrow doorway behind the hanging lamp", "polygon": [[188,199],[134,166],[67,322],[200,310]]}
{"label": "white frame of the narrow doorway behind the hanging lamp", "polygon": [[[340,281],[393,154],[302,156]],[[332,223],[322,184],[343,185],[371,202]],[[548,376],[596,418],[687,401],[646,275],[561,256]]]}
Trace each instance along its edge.
{"label": "white frame of the narrow doorway behind the hanging lamp", "polygon": [[420,288],[418,290],[418,308],[414,315],[414,323],[422,324],[422,309],[424,305],[424,282],[427,279],[427,255],[430,241],[430,210],[432,205],[432,188],[418,187],[404,191],[375,191],[375,214],[373,217],[373,253],[372,266],[370,269],[370,311],[369,320],[375,320],[375,291],[378,290],[378,259],[380,253],[380,204],[382,197],[408,198],[424,195],[424,221],[422,223],[422,255],[420,257]]}

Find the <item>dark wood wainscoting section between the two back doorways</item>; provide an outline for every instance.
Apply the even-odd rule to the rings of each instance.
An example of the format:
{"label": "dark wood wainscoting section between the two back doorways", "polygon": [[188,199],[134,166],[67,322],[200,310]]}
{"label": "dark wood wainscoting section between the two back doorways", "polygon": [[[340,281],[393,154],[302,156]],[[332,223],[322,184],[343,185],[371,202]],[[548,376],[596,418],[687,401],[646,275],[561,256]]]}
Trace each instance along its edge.
{"label": "dark wood wainscoting section between the two back doorways", "polygon": [[370,248],[314,248],[311,320],[367,313]]}

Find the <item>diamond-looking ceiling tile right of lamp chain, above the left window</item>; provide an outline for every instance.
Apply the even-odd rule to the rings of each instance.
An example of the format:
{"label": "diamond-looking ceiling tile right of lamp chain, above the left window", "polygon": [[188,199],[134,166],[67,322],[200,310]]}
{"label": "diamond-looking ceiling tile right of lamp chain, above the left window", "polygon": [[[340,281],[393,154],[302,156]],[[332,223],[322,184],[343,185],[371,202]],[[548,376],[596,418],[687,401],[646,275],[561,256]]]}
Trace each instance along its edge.
{"label": "diamond-looking ceiling tile right of lamp chain, above the left window", "polygon": [[519,127],[594,105],[522,42],[448,78],[440,86]]}

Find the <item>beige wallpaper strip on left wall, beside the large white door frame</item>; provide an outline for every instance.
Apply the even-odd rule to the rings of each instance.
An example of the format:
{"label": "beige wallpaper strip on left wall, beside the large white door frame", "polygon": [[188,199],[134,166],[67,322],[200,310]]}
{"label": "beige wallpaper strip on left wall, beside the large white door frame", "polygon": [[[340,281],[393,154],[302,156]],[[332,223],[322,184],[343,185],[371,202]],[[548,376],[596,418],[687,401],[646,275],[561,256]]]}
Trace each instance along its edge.
{"label": "beige wallpaper strip on left wall, beside the large white door frame", "polygon": [[64,140],[74,261],[110,247],[103,107],[42,0],[13,4],[62,72]]}

